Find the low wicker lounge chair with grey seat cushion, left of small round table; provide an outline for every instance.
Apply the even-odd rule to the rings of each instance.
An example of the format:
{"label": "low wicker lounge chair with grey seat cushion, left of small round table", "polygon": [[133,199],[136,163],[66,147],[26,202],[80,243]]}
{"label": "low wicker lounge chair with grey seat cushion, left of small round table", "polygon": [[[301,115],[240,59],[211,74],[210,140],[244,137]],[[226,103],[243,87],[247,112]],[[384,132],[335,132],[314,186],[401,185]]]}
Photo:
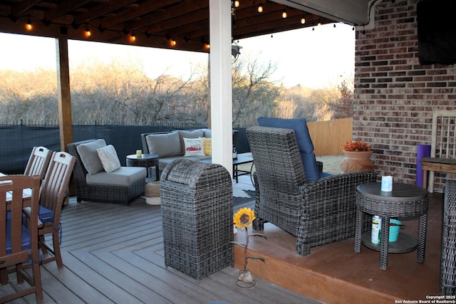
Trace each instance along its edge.
{"label": "low wicker lounge chair with grey seat cushion, left of small round table", "polygon": [[[95,145],[97,142],[99,145]],[[101,170],[89,168],[88,162],[95,163],[98,168],[100,167],[100,164],[96,163],[96,155],[92,155],[91,161],[87,154],[84,159],[78,146],[93,145],[91,148],[93,150],[95,147],[103,147],[103,143],[105,145],[104,140],[85,140],[68,144],[68,152],[76,157],[73,174],[76,182],[77,201],[128,204],[144,193],[146,169],[142,167],[120,167],[108,173],[103,170],[103,167]],[[93,152],[91,153],[93,154]]]}

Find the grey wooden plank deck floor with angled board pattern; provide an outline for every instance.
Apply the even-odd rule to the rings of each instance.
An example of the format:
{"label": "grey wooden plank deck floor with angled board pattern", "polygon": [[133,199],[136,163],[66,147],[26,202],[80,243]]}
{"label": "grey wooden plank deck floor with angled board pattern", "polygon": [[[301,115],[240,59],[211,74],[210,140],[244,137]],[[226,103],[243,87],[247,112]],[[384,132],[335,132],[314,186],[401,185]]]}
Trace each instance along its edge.
{"label": "grey wooden plank deck floor with angled board pattern", "polygon": [[[165,268],[160,206],[143,199],[125,206],[72,198],[61,222],[65,267],[41,267],[45,303],[318,303],[261,279],[255,288],[238,288],[237,268],[199,283]],[[16,288],[14,279],[0,285],[0,295]],[[12,303],[36,300],[28,295]]]}

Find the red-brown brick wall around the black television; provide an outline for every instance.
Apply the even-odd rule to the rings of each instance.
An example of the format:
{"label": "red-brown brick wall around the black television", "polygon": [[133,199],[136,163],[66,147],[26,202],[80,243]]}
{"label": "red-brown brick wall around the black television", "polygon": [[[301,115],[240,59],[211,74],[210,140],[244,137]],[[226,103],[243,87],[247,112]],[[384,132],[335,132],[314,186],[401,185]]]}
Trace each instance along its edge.
{"label": "red-brown brick wall around the black television", "polygon": [[[418,0],[381,1],[375,27],[356,32],[353,138],[372,145],[375,172],[415,184],[417,145],[430,145],[433,110],[456,109],[456,65],[420,65]],[[435,174],[435,192],[446,178]]]}

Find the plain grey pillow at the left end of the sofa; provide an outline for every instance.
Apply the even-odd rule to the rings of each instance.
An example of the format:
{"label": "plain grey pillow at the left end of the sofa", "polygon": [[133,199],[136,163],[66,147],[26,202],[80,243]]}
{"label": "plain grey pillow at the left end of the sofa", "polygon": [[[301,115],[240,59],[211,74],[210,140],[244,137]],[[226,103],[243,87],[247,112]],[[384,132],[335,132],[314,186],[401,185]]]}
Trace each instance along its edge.
{"label": "plain grey pillow at the left end of the sofa", "polygon": [[159,157],[172,157],[184,154],[180,148],[179,133],[177,131],[165,134],[150,134],[145,137],[150,154]]}

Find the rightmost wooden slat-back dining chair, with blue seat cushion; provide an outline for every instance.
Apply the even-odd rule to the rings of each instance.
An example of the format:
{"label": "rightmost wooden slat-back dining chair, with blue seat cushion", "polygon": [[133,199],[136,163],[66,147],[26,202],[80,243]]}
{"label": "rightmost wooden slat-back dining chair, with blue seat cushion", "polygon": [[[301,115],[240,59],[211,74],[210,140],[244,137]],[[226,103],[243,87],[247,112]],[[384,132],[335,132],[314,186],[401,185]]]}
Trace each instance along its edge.
{"label": "rightmost wooden slat-back dining chair, with blue seat cushion", "polygon": [[[53,152],[41,184],[39,219],[43,225],[38,229],[39,246],[43,251],[41,263],[56,261],[58,268],[63,267],[59,238],[60,214],[75,162],[76,157],[67,152]],[[53,246],[46,243],[46,234],[52,235]]]}

